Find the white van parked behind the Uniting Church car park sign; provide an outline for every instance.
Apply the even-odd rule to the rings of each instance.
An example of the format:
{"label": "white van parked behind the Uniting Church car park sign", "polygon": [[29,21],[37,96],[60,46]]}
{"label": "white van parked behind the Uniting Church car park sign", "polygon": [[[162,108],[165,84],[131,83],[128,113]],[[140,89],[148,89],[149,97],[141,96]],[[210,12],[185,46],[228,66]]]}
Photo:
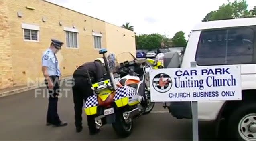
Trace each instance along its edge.
{"label": "white van parked behind the Uniting Church car park sign", "polygon": [[[179,55],[176,55],[179,56]],[[170,57],[170,58],[169,58]],[[165,53],[165,68],[177,67],[175,55]],[[199,121],[220,119],[232,140],[256,140],[256,18],[217,20],[197,24],[189,37],[178,67],[241,66],[242,101],[198,102]],[[178,119],[191,119],[190,102],[165,103]],[[216,126],[219,130],[219,126]]]}

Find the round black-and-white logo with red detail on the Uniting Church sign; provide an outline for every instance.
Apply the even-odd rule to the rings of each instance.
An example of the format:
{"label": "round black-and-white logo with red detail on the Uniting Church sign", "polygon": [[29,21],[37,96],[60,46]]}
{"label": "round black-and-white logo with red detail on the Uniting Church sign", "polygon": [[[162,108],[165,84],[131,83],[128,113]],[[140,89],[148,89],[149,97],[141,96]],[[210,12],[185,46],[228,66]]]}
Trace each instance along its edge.
{"label": "round black-and-white logo with red detail on the Uniting Church sign", "polygon": [[153,78],[153,87],[160,93],[169,91],[172,85],[171,77],[165,73],[160,73]]}

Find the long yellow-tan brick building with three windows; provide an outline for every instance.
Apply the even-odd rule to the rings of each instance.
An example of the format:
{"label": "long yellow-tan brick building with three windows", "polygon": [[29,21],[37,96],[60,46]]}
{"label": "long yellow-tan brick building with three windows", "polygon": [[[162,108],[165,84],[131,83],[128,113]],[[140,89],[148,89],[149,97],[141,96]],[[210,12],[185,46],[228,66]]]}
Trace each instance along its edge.
{"label": "long yellow-tan brick building with three windows", "polygon": [[62,76],[107,48],[136,54],[134,32],[45,0],[0,0],[0,89],[42,82],[41,56],[51,38],[63,41],[57,54]]}

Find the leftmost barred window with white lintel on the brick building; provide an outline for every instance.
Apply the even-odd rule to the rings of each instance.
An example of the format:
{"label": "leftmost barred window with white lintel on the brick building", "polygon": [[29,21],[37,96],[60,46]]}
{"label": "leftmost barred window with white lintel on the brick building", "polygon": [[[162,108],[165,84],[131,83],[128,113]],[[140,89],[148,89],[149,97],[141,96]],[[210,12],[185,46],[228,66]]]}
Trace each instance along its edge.
{"label": "leftmost barred window with white lintel on the brick building", "polygon": [[32,24],[23,24],[23,38],[24,41],[38,42],[39,41],[39,26]]}

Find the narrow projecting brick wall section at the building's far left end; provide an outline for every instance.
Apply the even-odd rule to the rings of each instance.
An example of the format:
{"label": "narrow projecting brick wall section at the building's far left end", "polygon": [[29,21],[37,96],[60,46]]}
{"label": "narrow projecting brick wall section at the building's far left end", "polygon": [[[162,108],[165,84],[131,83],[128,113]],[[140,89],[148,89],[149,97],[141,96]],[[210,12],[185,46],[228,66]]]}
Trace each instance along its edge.
{"label": "narrow projecting brick wall section at the building's far left end", "polygon": [[0,0],[0,88],[12,87],[12,53],[6,0]]}

